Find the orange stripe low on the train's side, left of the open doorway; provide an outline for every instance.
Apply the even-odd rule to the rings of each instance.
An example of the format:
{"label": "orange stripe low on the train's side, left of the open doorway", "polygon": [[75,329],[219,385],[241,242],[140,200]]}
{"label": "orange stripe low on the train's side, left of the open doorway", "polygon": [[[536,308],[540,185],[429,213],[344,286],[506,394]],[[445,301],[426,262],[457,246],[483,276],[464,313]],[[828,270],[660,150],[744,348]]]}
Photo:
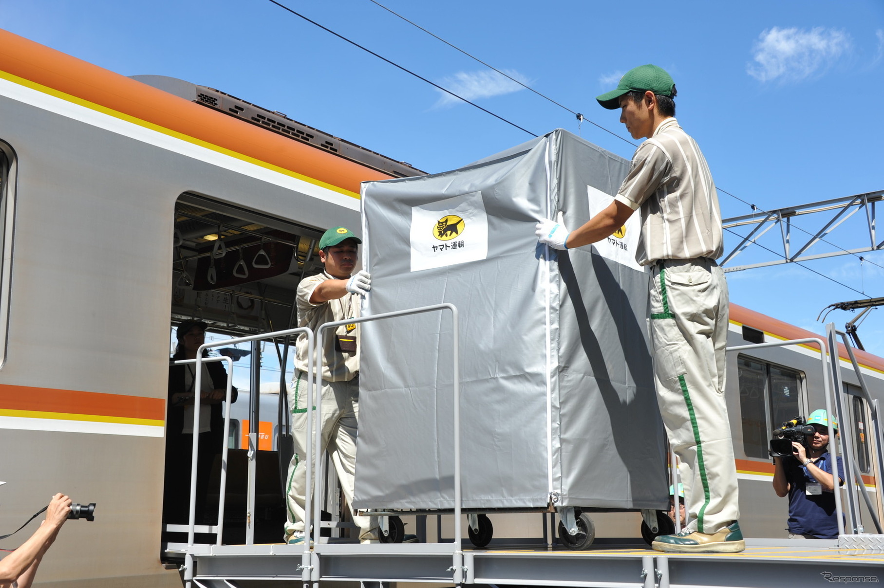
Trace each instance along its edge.
{"label": "orange stripe low on the train's side, left of the open doorway", "polygon": [[165,398],[0,384],[0,409],[164,421]]}

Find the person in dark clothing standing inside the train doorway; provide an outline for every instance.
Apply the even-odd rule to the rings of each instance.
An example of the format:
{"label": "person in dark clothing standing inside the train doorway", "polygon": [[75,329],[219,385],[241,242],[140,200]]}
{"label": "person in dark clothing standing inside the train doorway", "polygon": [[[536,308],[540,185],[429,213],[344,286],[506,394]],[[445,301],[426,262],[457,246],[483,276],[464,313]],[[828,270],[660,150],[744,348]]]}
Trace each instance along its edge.
{"label": "person in dark clothing standing inside the train doorway", "polygon": [[[172,361],[195,359],[205,341],[206,323],[186,320],[178,328],[178,348]],[[205,352],[203,352],[205,357]],[[190,511],[190,470],[194,433],[195,364],[169,366],[169,402],[166,416],[166,450],[163,516],[166,523],[186,524]],[[220,362],[202,364],[199,455],[196,466],[196,524],[203,524],[209,477],[224,438],[222,403],[227,394],[227,372]],[[231,402],[235,403],[236,388]]]}

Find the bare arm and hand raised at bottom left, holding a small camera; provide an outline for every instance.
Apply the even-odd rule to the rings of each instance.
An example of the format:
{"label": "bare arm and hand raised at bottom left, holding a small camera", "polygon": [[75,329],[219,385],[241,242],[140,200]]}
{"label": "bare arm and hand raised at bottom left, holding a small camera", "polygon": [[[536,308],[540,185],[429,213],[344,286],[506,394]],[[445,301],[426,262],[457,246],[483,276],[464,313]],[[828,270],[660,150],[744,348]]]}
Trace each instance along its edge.
{"label": "bare arm and hand raised at bottom left, holding a small camera", "polygon": [[64,494],[52,497],[46,508],[46,520],[21,547],[0,560],[0,588],[29,588],[34,582],[43,554],[55,541],[58,530],[71,512],[71,499]]}

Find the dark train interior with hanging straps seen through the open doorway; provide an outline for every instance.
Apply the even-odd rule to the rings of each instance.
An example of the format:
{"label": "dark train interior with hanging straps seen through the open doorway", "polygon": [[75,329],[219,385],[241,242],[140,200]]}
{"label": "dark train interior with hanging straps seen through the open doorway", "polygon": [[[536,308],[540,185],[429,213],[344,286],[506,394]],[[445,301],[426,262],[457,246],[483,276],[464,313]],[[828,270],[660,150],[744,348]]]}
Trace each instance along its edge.
{"label": "dark train interior with hanging straps seen through the open doorway", "polygon": [[[207,324],[206,342],[255,335],[296,327],[295,289],[305,275],[321,271],[316,245],[320,233],[293,222],[185,193],[175,207],[172,253],[172,297],[170,351],[177,342],[176,328],[184,320]],[[259,421],[256,453],[255,543],[282,539],[286,520],[283,484],[292,455],[291,441],[278,423],[278,411],[286,382],[291,380],[294,340],[239,343],[210,350],[210,357],[225,355],[234,362],[232,382],[239,398],[231,406],[227,436],[229,450],[226,477],[225,544],[246,542],[249,405],[257,403]],[[283,359],[283,356],[286,359]],[[280,370],[280,365],[286,369]],[[252,390],[261,393],[252,395]],[[175,432],[170,432],[175,433]],[[171,434],[171,437],[174,435]],[[188,435],[188,439],[192,438]],[[176,448],[175,451],[190,448]],[[167,449],[166,479],[180,479],[170,471],[174,461]],[[198,496],[195,524],[217,524],[220,488],[220,448],[212,456],[208,491]],[[200,469],[200,475],[205,471]],[[331,468],[333,477],[333,468]],[[176,478],[177,477],[177,478]],[[331,480],[333,483],[334,480]],[[168,482],[167,482],[168,486]],[[170,531],[168,525],[186,525],[187,509],[173,509],[170,503],[189,499],[189,479],[177,490],[167,489],[164,504],[164,545],[186,542],[187,533]],[[335,487],[335,486],[331,486]],[[333,494],[333,493],[329,493]],[[327,505],[336,516],[346,518],[339,504]],[[199,527],[198,527],[199,530]],[[215,543],[216,536],[197,533],[198,543]],[[164,559],[169,554],[164,551]],[[172,557],[172,559],[174,559]]]}

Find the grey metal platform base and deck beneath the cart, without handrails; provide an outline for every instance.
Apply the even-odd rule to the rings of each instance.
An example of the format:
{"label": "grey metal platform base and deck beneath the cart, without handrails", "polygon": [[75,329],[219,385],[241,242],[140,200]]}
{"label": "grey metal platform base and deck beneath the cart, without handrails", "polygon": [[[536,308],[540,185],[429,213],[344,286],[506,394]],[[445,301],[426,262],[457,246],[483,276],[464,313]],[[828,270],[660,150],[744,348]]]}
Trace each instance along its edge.
{"label": "grey metal platform base and deck beneath the cart, without handrails", "polygon": [[[802,587],[880,584],[884,554],[838,547],[837,541],[756,539],[741,554],[662,554],[650,548],[462,549],[455,581],[452,543],[322,544],[309,554],[310,583],[441,584],[679,588]],[[249,588],[301,585],[303,547],[194,546],[194,586]]]}

